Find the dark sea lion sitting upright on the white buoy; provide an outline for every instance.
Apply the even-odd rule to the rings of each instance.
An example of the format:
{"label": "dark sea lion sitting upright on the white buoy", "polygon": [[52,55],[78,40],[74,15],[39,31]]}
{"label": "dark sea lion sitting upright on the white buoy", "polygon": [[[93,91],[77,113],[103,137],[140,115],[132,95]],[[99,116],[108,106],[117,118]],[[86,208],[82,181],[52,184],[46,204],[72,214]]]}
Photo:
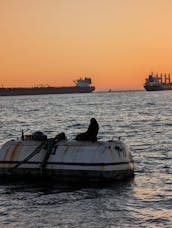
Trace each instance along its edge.
{"label": "dark sea lion sitting upright on the white buoy", "polygon": [[99,131],[99,125],[95,118],[91,118],[90,125],[86,132],[80,133],[76,136],[76,140],[78,141],[97,141],[97,134]]}

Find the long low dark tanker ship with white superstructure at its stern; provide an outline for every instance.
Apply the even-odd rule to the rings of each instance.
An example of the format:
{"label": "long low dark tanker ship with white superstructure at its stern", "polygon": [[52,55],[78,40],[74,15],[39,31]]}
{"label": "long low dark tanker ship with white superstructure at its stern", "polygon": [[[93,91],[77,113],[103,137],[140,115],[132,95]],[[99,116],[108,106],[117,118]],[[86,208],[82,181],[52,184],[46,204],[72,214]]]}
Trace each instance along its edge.
{"label": "long low dark tanker ship with white superstructure at its stern", "polygon": [[52,87],[52,86],[35,86],[35,87],[1,87],[0,96],[20,96],[20,95],[41,95],[41,94],[65,94],[65,93],[91,93],[95,86],[91,85],[91,78],[80,78],[73,81],[75,86]]}

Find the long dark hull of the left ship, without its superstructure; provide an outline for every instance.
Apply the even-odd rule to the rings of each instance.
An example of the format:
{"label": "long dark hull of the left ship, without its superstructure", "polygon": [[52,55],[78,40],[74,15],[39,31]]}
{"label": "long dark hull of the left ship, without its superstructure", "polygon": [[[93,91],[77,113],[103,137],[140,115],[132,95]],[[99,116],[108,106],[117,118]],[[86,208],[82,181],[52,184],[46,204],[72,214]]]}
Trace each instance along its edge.
{"label": "long dark hull of the left ship, without its superstructure", "polygon": [[43,95],[43,94],[68,94],[91,93],[94,86],[88,87],[33,87],[33,88],[0,88],[0,96]]}

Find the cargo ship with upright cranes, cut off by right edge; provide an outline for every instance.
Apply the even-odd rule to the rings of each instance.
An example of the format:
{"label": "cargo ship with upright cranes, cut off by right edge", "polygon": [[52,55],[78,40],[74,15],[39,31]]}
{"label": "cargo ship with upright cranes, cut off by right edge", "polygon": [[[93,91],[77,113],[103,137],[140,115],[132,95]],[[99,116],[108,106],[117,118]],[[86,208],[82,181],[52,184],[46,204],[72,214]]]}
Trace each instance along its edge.
{"label": "cargo ship with upright cranes, cut off by right edge", "polygon": [[170,74],[156,74],[151,73],[146,79],[144,88],[147,91],[160,91],[160,90],[172,90],[172,83],[170,80]]}

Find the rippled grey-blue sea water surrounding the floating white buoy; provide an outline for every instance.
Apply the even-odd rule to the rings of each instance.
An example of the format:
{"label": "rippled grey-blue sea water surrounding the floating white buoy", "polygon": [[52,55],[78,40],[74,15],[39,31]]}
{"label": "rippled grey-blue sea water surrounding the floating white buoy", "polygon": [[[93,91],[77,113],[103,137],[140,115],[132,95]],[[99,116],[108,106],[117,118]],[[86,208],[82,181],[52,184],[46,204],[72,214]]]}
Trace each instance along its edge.
{"label": "rippled grey-blue sea water surrounding the floating white buoy", "polygon": [[41,130],[69,139],[95,117],[129,144],[135,177],[110,185],[1,179],[0,227],[172,227],[172,91],[0,97],[0,145]]}

